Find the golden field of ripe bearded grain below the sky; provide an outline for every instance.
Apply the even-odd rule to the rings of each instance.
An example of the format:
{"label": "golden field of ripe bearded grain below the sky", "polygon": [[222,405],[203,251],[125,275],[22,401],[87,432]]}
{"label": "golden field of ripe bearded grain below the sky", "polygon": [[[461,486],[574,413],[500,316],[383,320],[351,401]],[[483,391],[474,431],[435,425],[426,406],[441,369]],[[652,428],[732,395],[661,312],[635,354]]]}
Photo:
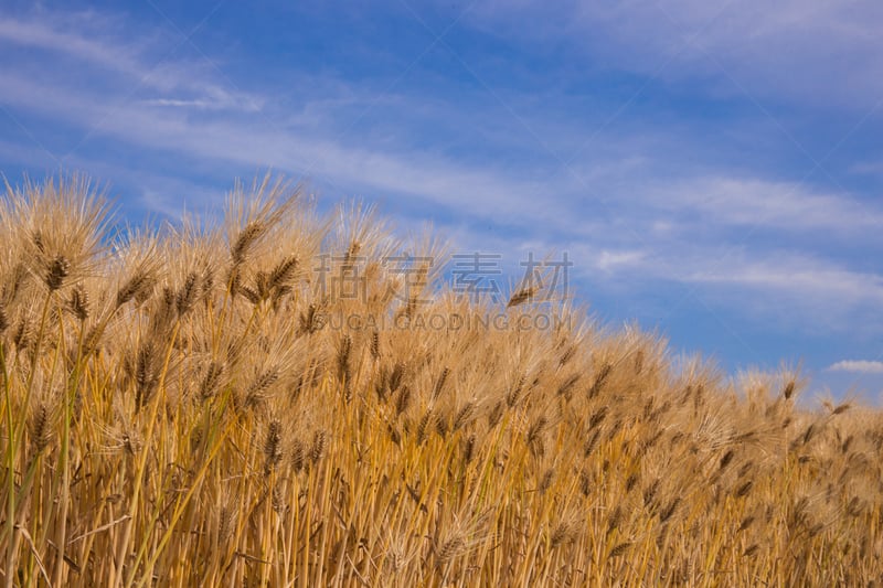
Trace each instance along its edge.
{"label": "golden field of ripe bearded grain below the sky", "polygon": [[4,585],[880,585],[876,409],[458,296],[445,253],[270,177],[146,229],[7,185]]}

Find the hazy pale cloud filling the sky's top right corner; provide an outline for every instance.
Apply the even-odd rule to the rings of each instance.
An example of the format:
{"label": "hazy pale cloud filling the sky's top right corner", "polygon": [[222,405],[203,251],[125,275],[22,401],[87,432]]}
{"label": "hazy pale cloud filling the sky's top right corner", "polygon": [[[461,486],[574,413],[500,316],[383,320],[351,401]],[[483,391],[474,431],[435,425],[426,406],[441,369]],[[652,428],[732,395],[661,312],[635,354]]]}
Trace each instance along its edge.
{"label": "hazy pale cloud filling the sky's top right corner", "polygon": [[[740,95],[742,86],[760,98],[863,109],[883,92],[876,0],[497,0],[472,15],[491,34],[543,45],[564,34],[594,63],[662,79],[714,79],[715,92]],[[525,19],[530,28],[521,25]]]}

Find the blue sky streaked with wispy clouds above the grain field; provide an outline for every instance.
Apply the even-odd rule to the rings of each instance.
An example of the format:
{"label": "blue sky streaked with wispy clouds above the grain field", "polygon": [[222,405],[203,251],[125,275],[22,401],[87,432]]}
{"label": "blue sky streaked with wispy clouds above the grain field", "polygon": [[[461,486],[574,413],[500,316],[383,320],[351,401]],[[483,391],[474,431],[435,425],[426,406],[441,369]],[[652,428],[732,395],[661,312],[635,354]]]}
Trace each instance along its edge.
{"label": "blue sky streaked with wispy clouds above the grain field", "polygon": [[883,395],[883,4],[3,2],[0,171],[132,220],[267,168],[726,373]]}

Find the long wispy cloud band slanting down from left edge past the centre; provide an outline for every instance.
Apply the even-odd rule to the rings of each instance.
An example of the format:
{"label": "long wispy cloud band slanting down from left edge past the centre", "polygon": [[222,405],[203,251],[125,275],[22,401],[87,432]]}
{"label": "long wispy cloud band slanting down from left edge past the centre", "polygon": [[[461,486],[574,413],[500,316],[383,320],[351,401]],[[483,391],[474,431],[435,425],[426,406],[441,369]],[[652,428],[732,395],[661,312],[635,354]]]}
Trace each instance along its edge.
{"label": "long wispy cloud band slanting down from left edge past the centre", "polygon": [[169,109],[166,103],[126,101],[118,95],[78,88],[62,93],[9,72],[0,73],[0,99],[65,124],[75,122],[94,135],[189,159],[236,162],[252,169],[270,165],[342,182],[350,189],[370,186],[379,195],[422,199],[466,217],[575,222],[564,214],[562,202],[543,200],[555,190],[547,183],[446,157],[351,146],[334,138],[333,129],[317,135],[274,125],[262,116],[193,119],[187,109]]}

